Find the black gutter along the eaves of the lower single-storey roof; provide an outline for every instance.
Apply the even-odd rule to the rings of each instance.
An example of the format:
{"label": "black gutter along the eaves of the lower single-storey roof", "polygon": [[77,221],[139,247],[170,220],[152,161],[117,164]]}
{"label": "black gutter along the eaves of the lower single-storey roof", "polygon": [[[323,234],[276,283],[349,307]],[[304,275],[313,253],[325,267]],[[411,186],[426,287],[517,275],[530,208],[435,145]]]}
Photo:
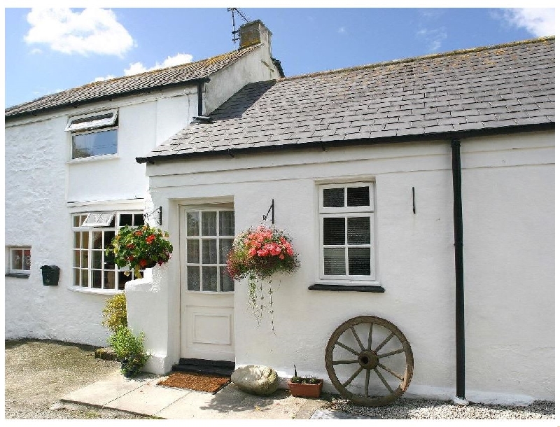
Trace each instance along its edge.
{"label": "black gutter along the eaves of the lower single-storey roof", "polygon": [[[216,121],[214,123],[219,123]],[[396,144],[402,142],[424,142],[424,141],[449,141],[450,139],[465,139],[465,138],[475,138],[475,137],[485,137],[485,136],[495,136],[495,135],[507,135],[507,134],[517,134],[520,132],[539,132],[543,130],[554,130],[554,122],[551,123],[538,123],[531,125],[517,125],[517,126],[507,126],[507,127],[493,127],[491,129],[481,129],[481,130],[471,130],[463,132],[441,132],[432,134],[412,134],[412,135],[402,135],[397,137],[381,137],[381,138],[357,138],[357,139],[345,139],[345,140],[332,140],[332,141],[313,141],[293,144],[280,144],[277,146],[258,146],[258,147],[245,147],[245,148],[235,148],[235,146],[224,146],[221,149],[211,148],[206,151],[198,150],[191,151],[190,153],[173,153],[165,155],[152,155],[149,157],[139,157],[136,158],[138,163],[151,163],[154,164],[156,161],[172,161],[172,160],[182,160],[186,158],[200,158],[216,155],[229,155],[234,157],[237,153],[265,153],[267,151],[279,151],[279,150],[298,150],[298,149],[309,149],[309,148],[321,148],[325,151],[327,148],[335,147],[348,147],[348,146],[360,146],[360,145],[377,145],[377,144]],[[297,140],[295,140],[297,141]]]}

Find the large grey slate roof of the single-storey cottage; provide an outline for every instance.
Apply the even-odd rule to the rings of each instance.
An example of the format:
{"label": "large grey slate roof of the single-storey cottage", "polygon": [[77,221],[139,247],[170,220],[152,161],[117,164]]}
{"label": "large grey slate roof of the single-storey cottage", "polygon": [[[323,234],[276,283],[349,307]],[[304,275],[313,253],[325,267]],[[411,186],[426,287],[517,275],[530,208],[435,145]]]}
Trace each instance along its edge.
{"label": "large grey slate roof of the single-storey cottage", "polygon": [[250,83],[137,161],[554,128],[554,40]]}

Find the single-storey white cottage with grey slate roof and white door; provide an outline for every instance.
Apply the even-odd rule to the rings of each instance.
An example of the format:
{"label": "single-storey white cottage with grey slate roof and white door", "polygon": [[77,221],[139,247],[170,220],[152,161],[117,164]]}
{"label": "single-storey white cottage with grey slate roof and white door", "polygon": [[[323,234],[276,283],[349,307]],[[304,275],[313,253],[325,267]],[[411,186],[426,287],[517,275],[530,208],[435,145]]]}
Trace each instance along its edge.
{"label": "single-storey white cottage with grey slate roof and white door", "polygon": [[[367,399],[409,377],[384,362],[408,342],[409,395],[554,400],[554,38],[248,83],[207,112],[137,159],[175,247],[127,284],[150,370],[296,365]],[[301,260],[272,277],[275,332],[220,251],[273,200]]]}

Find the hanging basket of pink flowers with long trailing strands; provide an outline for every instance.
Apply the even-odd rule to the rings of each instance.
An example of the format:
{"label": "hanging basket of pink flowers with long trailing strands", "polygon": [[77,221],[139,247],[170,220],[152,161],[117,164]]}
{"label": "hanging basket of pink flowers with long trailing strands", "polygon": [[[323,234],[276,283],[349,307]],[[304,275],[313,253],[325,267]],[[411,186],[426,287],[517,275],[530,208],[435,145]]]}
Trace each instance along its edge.
{"label": "hanging basket of pink flowers with long trailing strands", "polygon": [[[239,233],[228,253],[228,274],[234,280],[248,278],[248,304],[258,323],[265,311],[269,311],[274,330],[272,302],[272,274],[294,272],[300,267],[293,251],[291,239],[283,230],[259,225]],[[267,281],[268,290],[263,288]],[[267,302],[265,302],[265,293]]]}

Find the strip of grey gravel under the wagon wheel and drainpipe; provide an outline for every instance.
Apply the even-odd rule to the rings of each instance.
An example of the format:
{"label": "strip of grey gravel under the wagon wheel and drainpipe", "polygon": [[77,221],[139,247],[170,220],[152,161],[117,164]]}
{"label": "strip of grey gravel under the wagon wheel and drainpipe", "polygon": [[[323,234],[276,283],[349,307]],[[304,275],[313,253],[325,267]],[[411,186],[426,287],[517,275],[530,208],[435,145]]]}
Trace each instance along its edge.
{"label": "strip of grey gravel under the wagon wheel and drainpipe", "polygon": [[393,405],[363,407],[333,398],[325,409],[371,416],[375,419],[554,419],[554,402],[537,400],[529,406],[453,405],[442,400],[400,398]]}

